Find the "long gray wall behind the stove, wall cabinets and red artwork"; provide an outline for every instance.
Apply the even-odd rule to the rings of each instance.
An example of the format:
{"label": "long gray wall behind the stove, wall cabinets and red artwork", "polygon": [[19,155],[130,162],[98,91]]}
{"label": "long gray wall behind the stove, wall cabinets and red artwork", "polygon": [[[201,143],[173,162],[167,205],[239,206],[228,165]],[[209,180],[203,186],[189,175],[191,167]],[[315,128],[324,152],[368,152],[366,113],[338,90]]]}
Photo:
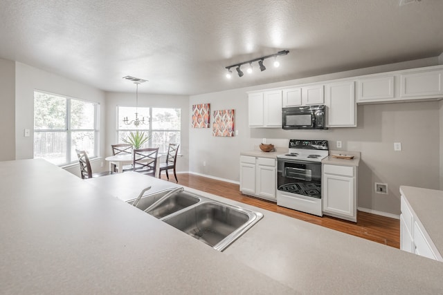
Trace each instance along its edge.
{"label": "long gray wall behind the stove, wall cabinets and red artwork", "polygon": [[[275,146],[287,146],[291,138],[329,140],[334,149],[336,140],[341,140],[344,151],[361,152],[359,207],[399,215],[400,185],[440,188],[440,160],[436,160],[440,159],[439,102],[359,105],[356,128],[284,131],[248,128],[246,91],[437,64],[438,57],[435,57],[233,91],[193,95],[190,97],[190,105],[210,103],[211,114],[219,109],[235,109],[235,129],[239,131],[239,135],[232,138],[213,137],[210,129],[190,129],[190,171],[238,182],[239,153],[257,149],[262,138]],[[401,142],[401,152],[393,151],[394,142]],[[417,156],[423,151],[426,151],[427,158]],[[203,166],[204,161],[206,166]],[[387,183],[388,195],[375,193],[374,182]]]}

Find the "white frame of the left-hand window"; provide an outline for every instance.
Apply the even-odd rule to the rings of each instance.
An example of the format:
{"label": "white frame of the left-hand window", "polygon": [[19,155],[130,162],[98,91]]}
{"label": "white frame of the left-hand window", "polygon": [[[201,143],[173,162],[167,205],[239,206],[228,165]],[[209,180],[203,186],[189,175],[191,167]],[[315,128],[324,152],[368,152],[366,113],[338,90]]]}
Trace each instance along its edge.
{"label": "white frame of the left-hand window", "polygon": [[[35,99],[35,93],[44,93],[46,95],[53,95],[56,97],[62,97],[66,99],[66,116],[64,117],[65,122],[65,129],[35,129],[34,126],[34,138],[35,140],[35,133],[66,133],[66,154],[65,154],[65,162],[62,164],[57,164],[57,166],[69,166],[71,164],[75,164],[78,162],[78,160],[71,160],[71,153],[72,153],[72,133],[73,132],[93,132],[94,135],[94,147],[93,147],[93,153],[91,157],[89,157],[90,160],[96,159],[100,157],[100,103],[98,102],[91,102],[87,99],[79,99],[76,97],[71,97],[69,95],[61,95],[57,93],[51,93],[48,91],[42,91],[39,89],[34,89],[34,99]],[[76,100],[80,102],[87,102],[88,104],[92,104],[94,107],[94,118],[93,118],[93,129],[71,129],[71,100]],[[34,100],[33,100],[34,101]],[[33,116],[35,116],[35,108],[33,108]],[[34,148],[33,148],[34,149]],[[35,157],[35,153],[33,151],[33,157]]]}

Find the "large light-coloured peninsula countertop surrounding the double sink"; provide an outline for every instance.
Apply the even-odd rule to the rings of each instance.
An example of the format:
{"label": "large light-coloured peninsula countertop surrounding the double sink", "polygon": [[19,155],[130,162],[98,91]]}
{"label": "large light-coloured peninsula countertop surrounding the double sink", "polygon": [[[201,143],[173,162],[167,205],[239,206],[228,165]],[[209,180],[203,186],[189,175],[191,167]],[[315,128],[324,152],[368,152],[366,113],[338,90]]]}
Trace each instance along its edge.
{"label": "large light-coloured peninsula countertop surrounding the double sink", "polygon": [[0,175],[2,293],[443,290],[440,262],[263,209],[251,207],[264,218],[219,252],[44,160],[0,162]]}

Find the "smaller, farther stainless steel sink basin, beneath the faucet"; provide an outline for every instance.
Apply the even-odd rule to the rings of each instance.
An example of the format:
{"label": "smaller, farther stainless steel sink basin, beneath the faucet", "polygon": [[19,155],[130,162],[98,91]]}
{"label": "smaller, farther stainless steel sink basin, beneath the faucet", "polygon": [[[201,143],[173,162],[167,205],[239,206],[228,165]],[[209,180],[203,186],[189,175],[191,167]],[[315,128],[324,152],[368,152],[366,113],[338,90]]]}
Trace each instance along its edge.
{"label": "smaller, farther stainless steel sink basin, beneath the faucet", "polygon": [[200,200],[201,199],[199,198],[199,196],[181,191],[168,196],[164,200],[156,202],[156,204],[153,204],[145,211],[148,214],[160,219],[174,212],[190,207],[193,204],[197,204],[197,202],[200,202]]}

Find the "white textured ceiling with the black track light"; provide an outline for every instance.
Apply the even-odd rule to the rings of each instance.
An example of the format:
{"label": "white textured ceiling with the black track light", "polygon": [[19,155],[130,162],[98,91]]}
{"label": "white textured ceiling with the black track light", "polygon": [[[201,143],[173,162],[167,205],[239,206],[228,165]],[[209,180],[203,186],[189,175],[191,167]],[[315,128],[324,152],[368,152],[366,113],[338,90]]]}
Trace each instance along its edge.
{"label": "white textured ceiling with the black track light", "polygon": [[[443,1],[0,0],[0,57],[104,91],[192,95],[443,52]],[[225,66],[289,50],[280,68]],[[257,64],[253,64],[257,70]]]}

